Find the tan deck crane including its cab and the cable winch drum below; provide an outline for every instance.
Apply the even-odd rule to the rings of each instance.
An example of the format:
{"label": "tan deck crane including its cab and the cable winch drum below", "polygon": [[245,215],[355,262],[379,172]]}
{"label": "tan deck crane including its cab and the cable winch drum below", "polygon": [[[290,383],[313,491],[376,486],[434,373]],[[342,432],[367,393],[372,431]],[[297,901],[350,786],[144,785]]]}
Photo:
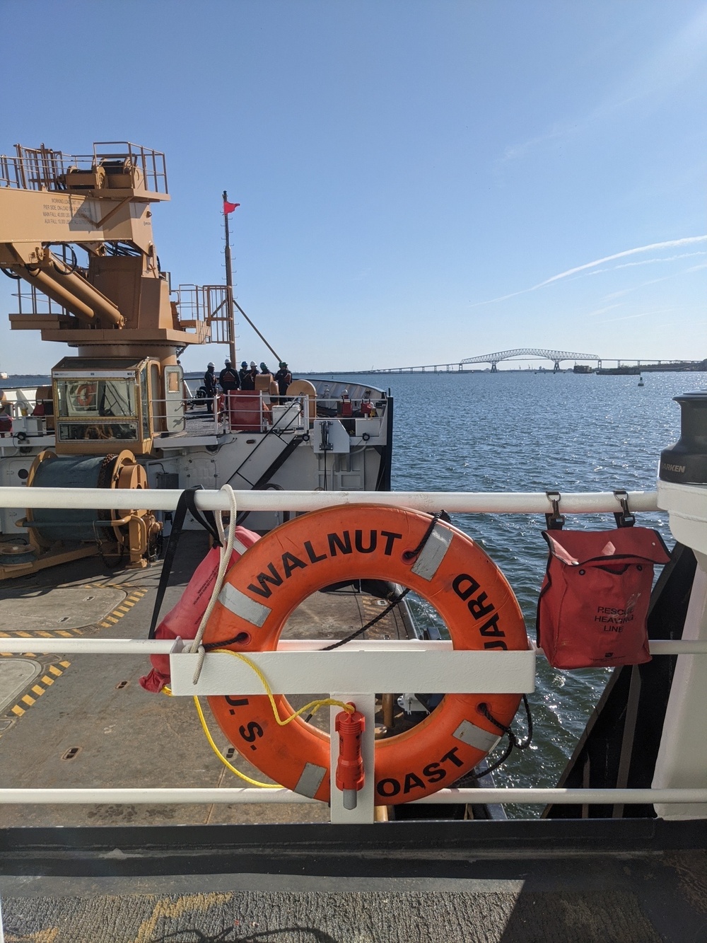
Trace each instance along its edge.
{"label": "tan deck crane including its cab and the cable winch drum below", "polygon": [[[151,209],[170,199],[164,155],[115,142],[94,144],[87,157],[43,144],[15,149],[14,157],[0,157],[0,267],[29,290],[17,293],[11,328],[39,330],[42,340],[77,348],[77,356],[52,370],[51,394],[45,390],[40,399],[38,392],[56,444],[36,455],[26,484],[146,488],[136,456],[184,428],[177,356],[188,344],[210,340],[212,326],[215,340],[232,340],[231,312],[222,298],[221,311],[207,305],[201,317],[205,306],[192,304],[196,317],[183,321],[170,298]],[[84,250],[84,265],[76,249]],[[193,291],[202,300],[214,297]],[[160,527],[145,509],[63,517],[45,513],[38,520],[35,513],[17,521],[29,529],[30,544],[0,545],[0,564],[9,564],[0,565],[0,575],[95,553],[106,540],[141,566]],[[77,537],[83,545],[67,551]]]}

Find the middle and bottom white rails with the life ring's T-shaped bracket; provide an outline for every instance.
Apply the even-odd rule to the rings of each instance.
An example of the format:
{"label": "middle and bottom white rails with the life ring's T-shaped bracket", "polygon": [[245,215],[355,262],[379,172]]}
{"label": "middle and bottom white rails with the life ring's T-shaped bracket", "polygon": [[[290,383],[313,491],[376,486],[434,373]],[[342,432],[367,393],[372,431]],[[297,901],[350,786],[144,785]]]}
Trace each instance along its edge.
{"label": "middle and bottom white rails with the life ring's T-shaped bracket", "polygon": [[[224,693],[261,694],[262,686],[255,672],[222,653],[208,653],[199,680],[193,682],[194,665],[199,658],[183,650],[181,639],[150,640],[129,638],[7,638],[0,648],[22,653],[31,645],[34,653],[64,654],[156,654],[170,653],[174,696],[211,696]],[[382,687],[395,689],[432,689],[452,692],[531,692],[534,689],[534,663],[541,650],[532,646],[525,652],[452,651],[450,641],[354,640],[345,650],[321,651],[321,639],[287,639],[276,652],[249,653],[263,671],[275,692],[309,693],[313,687],[332,690],[339,700],[354,701],[366,717],[362,753],[368,770],[368,786],[358,794],[356,808],[343,808],[336,787],[338,740],[331,737],[331,820],[333,822],[373,821],[373,792],[370,770],[374,752],[375,692]],[[650,642],[651,654],[704,654],[707,642],[662,640]],[[356,693],[342,693],[353,687]],[[365,680],[364,680],[365,679]],[[332,726],[337,708],[331,709]],[[0,788],[0,804],[13,802],[110,802],[110,803],[314,803],[291,790],[257,788]],[[447,788],[421,803],[522,803],[522,804],[644,804],[707,803],[707,788]]]}

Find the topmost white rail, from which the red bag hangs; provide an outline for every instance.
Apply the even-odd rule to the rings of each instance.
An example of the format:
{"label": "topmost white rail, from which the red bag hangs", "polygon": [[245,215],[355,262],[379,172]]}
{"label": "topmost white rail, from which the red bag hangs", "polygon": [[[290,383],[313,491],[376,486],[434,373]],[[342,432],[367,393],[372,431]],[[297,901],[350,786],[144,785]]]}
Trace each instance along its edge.
{"label": "topmost white rail, from which the red bag hangs", "polygon": [[[129,493],[129,488],[123,494]],[[551,502],[544,491],[236,491],[238,509],[243,511],[313,511],[337,505],[382,505],[408,507],[435,513],[440,507],[452,514],[545,514]],[[150,489],[150,507],[171,511],[176,508],[181,491]],[[197,491],[200,510],[227,511],[228,502],[216,490]],[[629,491],[632,511],[659,510],[656,491]],[[14,488],[2,489],[3,507],[94,508],[105,503],[99,488]],[[614,513],[619,507],[613,491],[562,492],[565,514]]]}

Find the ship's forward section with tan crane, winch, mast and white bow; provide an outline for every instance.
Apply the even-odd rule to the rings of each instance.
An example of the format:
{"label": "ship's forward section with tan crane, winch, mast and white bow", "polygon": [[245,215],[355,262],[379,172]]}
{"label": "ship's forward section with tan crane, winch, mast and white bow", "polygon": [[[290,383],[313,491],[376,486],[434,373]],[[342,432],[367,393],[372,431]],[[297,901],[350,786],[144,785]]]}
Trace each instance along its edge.
{"label": "ship's forward section with tan crane, winch, mast and white bow", "polygon": [[[164,155],[110,141],[85,157],[15,150],[0,156],[0,270],[17,286],[10,325],[75,355],[54,366],[51,389],[7,391],[15,399],[5,404],[11,428],[0,416],[0,487],[389,488],[392,400],[383,390],[373,390],[372,408],[368,385],[327,382],[320,394],[298,380],[281,400],[259,376],[255,390],[187,413],[194,401],[178,357],[189,344],[217,343],[233,359],[234,310],[280,357],[236,303],[230,277],[172,288],[161,270],[152,209],[170,199]],[[224,211],[226,236],[227,223]],[[160,522],[149,510],[77,514],[0,508],[0,579],[100,546],[129,553],[134,566],[153,555]],[[286,514],[252,513],[248,525],[265,533]]]}

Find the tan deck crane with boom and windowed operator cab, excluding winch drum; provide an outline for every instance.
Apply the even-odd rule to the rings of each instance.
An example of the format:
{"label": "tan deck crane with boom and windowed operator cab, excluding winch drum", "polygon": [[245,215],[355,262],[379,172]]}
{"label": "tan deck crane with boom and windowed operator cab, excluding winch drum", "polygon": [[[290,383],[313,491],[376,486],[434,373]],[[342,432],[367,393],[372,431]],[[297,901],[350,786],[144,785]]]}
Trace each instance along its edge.
{"label": "tan deck crane with boom and windowed operator cab, excluding winch drum", "polygon": [[[10,314],[12,330],[78,349],[53,371],[58,454],[105,455],[119,438],[145,455],[181,427],[177,356],[211,339],[214,312],[199,320],[198,307],[182,321],[170,299],[151,210],[169,198],[164,155],[135,144],[96,143],[89,157],[17,145],[16,157],[0,157],[0,266],[30,286],[29,310]],[[74,246],[87,253],[85,267]],[[130,382],[107,391],[108,374]],[[104,422],[118,405],[124,422]]]}

